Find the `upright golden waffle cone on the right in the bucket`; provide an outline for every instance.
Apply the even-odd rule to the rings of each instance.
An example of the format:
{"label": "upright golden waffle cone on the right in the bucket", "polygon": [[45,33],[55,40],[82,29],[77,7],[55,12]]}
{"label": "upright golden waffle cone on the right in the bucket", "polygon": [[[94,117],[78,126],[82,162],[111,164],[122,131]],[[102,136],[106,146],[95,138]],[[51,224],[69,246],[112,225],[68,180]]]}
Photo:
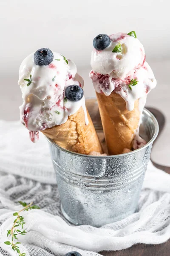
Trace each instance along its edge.
{"label": "upright golden waffle cone on the right in the bucket", "polygon": [[96,96],[108,154],[122,154],[125,148],[131,150],[140,119],[138,100],[133,111],[128,111],[125,100],[117,93],[112,92],[111,95],[105,96],[96,92]]}

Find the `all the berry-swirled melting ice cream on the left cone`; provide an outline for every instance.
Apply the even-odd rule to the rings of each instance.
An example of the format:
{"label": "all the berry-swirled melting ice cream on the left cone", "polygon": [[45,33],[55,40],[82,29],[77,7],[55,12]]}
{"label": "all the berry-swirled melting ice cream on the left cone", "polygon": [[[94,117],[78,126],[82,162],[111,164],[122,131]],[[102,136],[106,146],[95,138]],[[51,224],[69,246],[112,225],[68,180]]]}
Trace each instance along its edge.
{"label": "all the berry-swirled melting ice cream on the left cone", "polygon": [[28,128],[32,142],[38,140],[39,131],[65,123],[68,116],[76,113],[81,106],[85,112],[85,124],[88,125],[85,98],[78,102],[65,99],[67,86],[77,84],[83,87],[84,81],[71,60],[67,64],[59,53],[53,52],[53,55],[54,59],[48,66],[37,66],[34,53],[20,65],[18,84],[23,94],[20,119]]}

